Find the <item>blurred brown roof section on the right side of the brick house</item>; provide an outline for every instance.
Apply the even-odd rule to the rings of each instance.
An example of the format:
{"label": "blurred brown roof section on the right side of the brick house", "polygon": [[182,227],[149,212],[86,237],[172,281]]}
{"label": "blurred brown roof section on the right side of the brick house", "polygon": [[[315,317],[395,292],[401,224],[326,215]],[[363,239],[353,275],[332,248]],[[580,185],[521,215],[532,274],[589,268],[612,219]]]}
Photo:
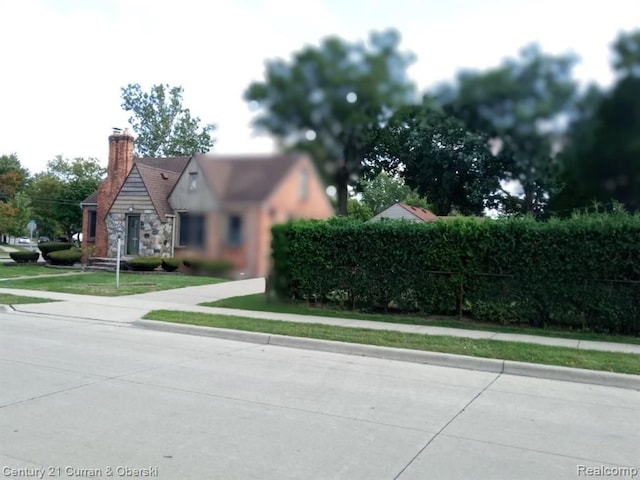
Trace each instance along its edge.
{"label": "blurred brown roof section on the right side of the brick house", "polygon": [[301,157],[299,154],[198,154],[194,159],[220,201],[262,202]]}

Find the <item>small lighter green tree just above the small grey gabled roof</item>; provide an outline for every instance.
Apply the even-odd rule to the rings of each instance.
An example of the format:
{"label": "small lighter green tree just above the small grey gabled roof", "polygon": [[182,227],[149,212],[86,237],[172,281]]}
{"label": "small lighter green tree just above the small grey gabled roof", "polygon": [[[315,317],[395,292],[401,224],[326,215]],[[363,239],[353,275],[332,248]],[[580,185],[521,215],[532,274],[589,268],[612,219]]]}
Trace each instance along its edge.
{"label": "small lighter green tree just above the small grey gabled roof", "polygon": [[414,207],[432,208],[427,199],[407,186],[401,177],[384,171],[371,180],[360,181],[358,186],[361,191],[361,203],[368,207],[373,215],[398,202]]}

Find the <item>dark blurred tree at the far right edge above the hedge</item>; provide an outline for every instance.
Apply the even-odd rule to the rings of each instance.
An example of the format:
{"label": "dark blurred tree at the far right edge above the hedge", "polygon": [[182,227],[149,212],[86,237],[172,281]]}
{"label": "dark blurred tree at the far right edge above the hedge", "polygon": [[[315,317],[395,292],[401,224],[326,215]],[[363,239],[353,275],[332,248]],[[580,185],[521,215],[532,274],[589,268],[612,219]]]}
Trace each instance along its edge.
{"label": "dark blurred tree at the far right edge above the hedge", "polygon": [[556,214],[593,202],[640,209],[640,30],[622,33],[613,49],[618,81],[610,92],[588,91],[580,103],[563,189],[552,199]]}

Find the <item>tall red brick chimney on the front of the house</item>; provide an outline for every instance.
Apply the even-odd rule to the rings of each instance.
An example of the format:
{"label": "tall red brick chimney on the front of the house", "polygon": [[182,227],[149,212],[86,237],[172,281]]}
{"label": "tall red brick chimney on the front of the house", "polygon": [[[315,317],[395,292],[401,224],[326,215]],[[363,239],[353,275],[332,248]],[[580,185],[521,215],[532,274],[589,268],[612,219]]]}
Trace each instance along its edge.
{"label": "tall red brick chimney on the front of the house", "polygon": [[120,187],[133,166],[133,135],[127,129],[114,129],[109,136],[109,162],[107,178],[98,187],[98,206],[96,212],[96,257],[106,257],[109,250],[109,232],[106,217]]}

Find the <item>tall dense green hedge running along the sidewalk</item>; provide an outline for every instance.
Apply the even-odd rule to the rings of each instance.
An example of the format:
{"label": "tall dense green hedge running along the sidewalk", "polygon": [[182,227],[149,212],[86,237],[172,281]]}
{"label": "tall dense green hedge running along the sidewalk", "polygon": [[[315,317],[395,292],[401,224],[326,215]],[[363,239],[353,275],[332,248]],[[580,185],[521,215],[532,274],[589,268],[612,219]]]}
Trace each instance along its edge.
{"label": "tall dense green hedge running along the sidewalk", "polygon": [[272,254],[282,298],[640,333],[639,216],[302,221]]}

